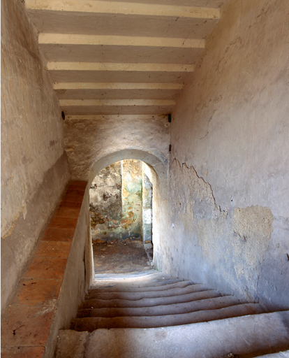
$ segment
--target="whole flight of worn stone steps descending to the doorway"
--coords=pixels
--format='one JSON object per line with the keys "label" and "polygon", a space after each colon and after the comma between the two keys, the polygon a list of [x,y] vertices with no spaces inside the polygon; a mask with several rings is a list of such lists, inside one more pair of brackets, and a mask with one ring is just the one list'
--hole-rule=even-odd
{"label": "whole flight of worn stone steps descending to the doorway", "polygon": [[71,330],[59,331],[56,357],[249,358],[288,349],[289,311],[269,313],[151,270],[97,275]]}

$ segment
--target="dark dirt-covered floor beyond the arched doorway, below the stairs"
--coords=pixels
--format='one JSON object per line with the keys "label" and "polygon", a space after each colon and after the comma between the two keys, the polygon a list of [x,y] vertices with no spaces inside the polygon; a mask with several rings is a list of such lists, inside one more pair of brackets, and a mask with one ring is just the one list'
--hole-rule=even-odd
{"label": "dark dirt-covered floor beyond the arched doorway, below the stairs", "polygon": [[142,241],[94,243],[94,273],[128,273],[151,269]]}

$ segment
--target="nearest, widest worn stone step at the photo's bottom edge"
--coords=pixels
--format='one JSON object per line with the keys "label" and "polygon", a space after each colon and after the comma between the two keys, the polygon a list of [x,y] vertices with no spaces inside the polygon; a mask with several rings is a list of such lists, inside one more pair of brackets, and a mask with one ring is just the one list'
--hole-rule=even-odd
{"label": "nearest, widest worn stone step at the photo's bottom edge", "polygon": [[[74,352],[79,348],[77,358],[259,357],[289,349],[288,322],[284,311],[175,327],[59,331],[56,358],[68,357],[68,343]],[[287,358],[288,352],[271,356]]]}

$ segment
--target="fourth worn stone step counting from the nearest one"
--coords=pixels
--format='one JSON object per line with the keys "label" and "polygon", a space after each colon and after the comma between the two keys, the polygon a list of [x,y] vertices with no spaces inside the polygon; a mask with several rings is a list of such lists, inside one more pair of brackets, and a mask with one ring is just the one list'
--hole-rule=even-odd
{"label": "fourth worn stone step counting from the nearest one", "polygon": [[163,306],[170,304],[177,304],[181,302],[190,302],[197,301],[200,299],[210,299],[213,297],[221,296],[220,292],[217,292],[214,289],[209,289],[201,292],[193,292],[191,294],[183,294],[179,296],[172,297],[160,297],[160,298],[149,298],[149,299],[139,299],[139,300],[125,300],[125,299],[111,299],[111,300],[101,300],[101,299],[89,299],[80,305],[80,309],[83,308],[111,308],[111,307],[152,307],[152,306]]}

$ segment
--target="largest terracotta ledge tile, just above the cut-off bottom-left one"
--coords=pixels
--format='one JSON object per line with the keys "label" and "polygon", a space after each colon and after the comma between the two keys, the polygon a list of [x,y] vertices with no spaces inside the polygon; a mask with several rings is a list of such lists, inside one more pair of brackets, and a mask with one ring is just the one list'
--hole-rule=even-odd
{"label": "largest terracotta ledge tile, just above the cut-off bottom-left one", "polygon": [[45,345],[54,309],[39,306],[10,306],[1,320],[1,345]]}

